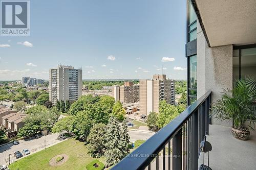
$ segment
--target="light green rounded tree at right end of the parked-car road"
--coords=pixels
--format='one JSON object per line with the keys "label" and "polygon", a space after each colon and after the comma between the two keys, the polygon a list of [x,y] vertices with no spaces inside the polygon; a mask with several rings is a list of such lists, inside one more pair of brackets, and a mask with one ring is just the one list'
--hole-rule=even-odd
{"label": "light green rounded tree at right end of the parked-car road", "polygon": [[52,132],[56,133],[56,132],[67,131],[69,134],[72,129],[72,122],[73,122],[73,116],[63,117],[52,128]]}

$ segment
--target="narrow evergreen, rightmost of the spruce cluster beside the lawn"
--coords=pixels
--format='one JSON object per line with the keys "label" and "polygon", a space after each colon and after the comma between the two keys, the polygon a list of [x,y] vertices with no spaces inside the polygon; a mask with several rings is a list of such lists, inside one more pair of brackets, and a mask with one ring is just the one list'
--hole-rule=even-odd
{"label": "narrow evergreen, rightmost of the spruce cluster beside the lawn", "polygon": [[121,125],[120,137],[121,137],[121,142],[123,144],[122,148],[124,151],[124,155],[127,155],[130,152],[130,150],[129,150],[130,136],[128,134],[127,125],[126,125],[125,120],[123,120],[122,125]]}

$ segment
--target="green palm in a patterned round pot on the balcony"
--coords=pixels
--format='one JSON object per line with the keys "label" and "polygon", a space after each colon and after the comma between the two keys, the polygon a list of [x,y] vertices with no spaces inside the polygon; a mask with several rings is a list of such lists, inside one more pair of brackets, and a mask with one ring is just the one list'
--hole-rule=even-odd
{"label": "green palm in a patterned round pot on the balcony", "polygon": [[[221,99],[214,103],[210,116],[224,120],[232,120],[231,132],[233,136],[240,140],[247,140],[250,130],[254,130],[256,116],[251,110],[251,105],[255,101],[256,83],[254,78],[247,77],[236,80],[236,86],[231,90],[227,89],[221,93]],[[248,128],[245,123],[248,122]]]}

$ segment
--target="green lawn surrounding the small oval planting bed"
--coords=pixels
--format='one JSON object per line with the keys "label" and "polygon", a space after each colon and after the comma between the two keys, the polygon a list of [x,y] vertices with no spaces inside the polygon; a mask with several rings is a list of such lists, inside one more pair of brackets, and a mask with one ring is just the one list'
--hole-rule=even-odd
{"label": "green lawn surrounding the small oval planting bed", "polygon": [[[77,142],[73,144],[74,142]],[[9,165],[10,170],[27,170],[27,169],[75,169],[85,170],[86,165],[96,158],[87,154],[88,150],[83,142],[75,139],[69,139],[53,145],[46,150],[39,151],[28,157],[22,158]],[[56,155],[67,154],[69,159],[62,165],[50,166],[49,161]],[[98,159],[98,158],[97,158]],[[99,161],[105,163],[105,158],[101,157]]]}

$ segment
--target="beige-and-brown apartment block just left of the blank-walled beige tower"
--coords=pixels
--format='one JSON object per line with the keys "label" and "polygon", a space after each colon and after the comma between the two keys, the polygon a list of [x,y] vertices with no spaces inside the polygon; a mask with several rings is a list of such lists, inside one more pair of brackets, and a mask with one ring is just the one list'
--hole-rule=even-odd
{"label": "beige-and-brown apartment block just left of the blank-walled beige tower", "polygon": [[112,96],[115,101],[121,103],[136,103],[139,102],[139,85],[134,85],[133,82],[124,82],[123,86],[112,86]]}

